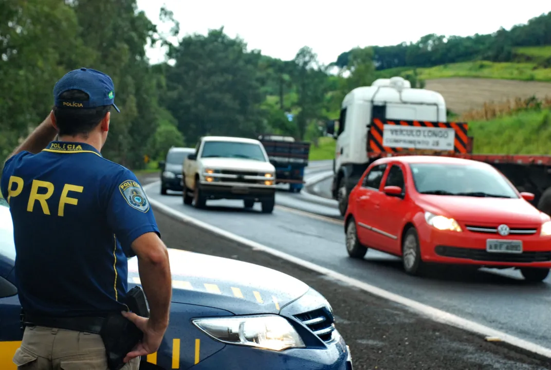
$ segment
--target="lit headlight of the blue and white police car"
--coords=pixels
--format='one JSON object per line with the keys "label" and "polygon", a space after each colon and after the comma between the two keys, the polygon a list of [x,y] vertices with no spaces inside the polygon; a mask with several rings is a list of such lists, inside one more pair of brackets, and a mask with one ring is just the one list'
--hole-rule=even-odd
{"label": "lit headlight of the blue and white police car", "polygon": [[197,328],[223,343],[272,351],[304,348],[304,342],[287,319],[278,315],[192,320]]}

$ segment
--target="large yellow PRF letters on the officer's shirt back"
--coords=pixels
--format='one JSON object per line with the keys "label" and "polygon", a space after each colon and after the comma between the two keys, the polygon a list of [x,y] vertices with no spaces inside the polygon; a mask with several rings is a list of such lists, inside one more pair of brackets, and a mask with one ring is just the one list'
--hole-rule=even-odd
{"label": "large yellow PRF letters on the officer's shirt back", "polygon": [[[80,146],[80,145],[77,145]],[[10,176],[8,182],[8,203],[12,198],[17,197],[23,191],[23,178],[18,176]],[[44,189],[46,192],[44,192]],[[27,203],[27,211],[34,212],[36,202],[39,203],[42,213],[50,215],[50,208],[46,200],[50,199],[53,194],[53,184],[48,181],[33,180],[31,185],[31,192],[29,194],[29,202]],[[65,205],[72,204],[77,205],[78,199],[69,197],[69,192],[82,193],[84,187],[72,184],[64,184],[63,191],[61,192],[60,202],[57,207],[57,215],[63,217]]]}

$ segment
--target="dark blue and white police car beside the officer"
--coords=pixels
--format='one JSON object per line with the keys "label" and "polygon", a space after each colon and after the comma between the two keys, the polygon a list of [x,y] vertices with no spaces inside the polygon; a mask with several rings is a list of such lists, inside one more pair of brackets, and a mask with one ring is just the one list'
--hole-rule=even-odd
{"label": "dark blue and white police car beside the officer", "polygon": [[[279,271],[169,248],[170,323],[140,370],[351,370],[329,302]],[[15,287],[13,224],[0,199],[0,369],[15,370],[23,339]],[[128,288],[141,285],[136,257]],[[63,366],[63,364],[62,364]]]}

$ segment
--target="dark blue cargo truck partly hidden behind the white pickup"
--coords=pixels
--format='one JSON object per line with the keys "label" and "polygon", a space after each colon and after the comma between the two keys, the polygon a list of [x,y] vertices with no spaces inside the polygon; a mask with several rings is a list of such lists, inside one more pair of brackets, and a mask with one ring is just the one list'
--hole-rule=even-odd
{"label": "dark blue cargo truck partly hidden behind the white pickup", "polygon": [[271,164],[276,167],[276,183],[289,184],[291,193],[300,193],[304,186],[304,168],[308,165],[310,143],[283,135],[260,135]]}

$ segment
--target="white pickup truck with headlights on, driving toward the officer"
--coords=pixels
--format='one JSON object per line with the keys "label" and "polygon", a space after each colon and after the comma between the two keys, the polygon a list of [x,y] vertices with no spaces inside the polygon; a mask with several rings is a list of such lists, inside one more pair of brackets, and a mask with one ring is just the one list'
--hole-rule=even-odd
{"label": "white pickup truck with headlights on, driving toward the officer", "polygon": [[242,199],[245,208],[262,203],[272,213],[276,200],[276,168],[264,146],[254,139],[208,136],[182,166],[183,203],[204,208],[207,199]]}

